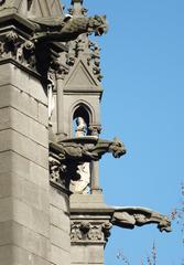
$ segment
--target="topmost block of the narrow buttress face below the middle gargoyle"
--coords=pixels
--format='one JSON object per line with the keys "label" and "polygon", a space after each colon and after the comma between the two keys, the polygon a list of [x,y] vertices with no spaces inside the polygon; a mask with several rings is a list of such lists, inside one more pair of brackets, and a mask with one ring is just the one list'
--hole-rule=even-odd
{"label": "topmost block of the narrow buttress face below the middle gargoyle", "polygon": [[61,209],[64,212],[69,212],[69,200],[67,195],[53,187],[50,188],[51,205]]}

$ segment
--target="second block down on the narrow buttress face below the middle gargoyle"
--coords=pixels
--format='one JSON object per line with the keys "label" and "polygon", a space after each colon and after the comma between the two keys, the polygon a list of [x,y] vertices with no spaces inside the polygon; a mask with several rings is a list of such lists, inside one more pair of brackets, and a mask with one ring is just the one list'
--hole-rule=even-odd
{"label": "second block down on the narrow buttress face below the middle gargoyle", "polygon": [[71,219],[69,219],[68,212],[64,212],[63,210],[51,205],[50,216],[51,216],[51,224],[65,231],[68,234],[71,233]]}

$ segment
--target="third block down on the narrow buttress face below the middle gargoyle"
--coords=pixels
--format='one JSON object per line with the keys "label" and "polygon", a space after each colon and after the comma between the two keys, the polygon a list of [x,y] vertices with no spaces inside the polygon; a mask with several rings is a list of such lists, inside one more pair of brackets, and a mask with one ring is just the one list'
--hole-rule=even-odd
{"label": "third block down on the narrow buttress face below the middle gargoyle", "polygon": [[66,233],[54,225],[51,225],[51,243],[66,252],[71,252],[69,233]]}

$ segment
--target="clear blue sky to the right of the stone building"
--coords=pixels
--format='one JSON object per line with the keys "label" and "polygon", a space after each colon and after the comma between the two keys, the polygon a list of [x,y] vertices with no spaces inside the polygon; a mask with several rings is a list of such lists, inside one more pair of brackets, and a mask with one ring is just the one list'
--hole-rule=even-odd
{"label": "clear blue sky to the right of the stone building", "polygon": [[[180,204],[184,181],[184,1],[86,0],[89,14],[107,14],[109,33],[101,46],[102,137],[119,136],[128,153],[106,156],[100,182],[110,205],[141,205],[169,214]],[[69,0],[63,1],[66,6]],[[181,264],[184,247],[173,225],[171,234],[155,226],[113,229],[106,265],[141,264],[153,241],[159,264]],[[183,255],[184,257],[184,255]]]}

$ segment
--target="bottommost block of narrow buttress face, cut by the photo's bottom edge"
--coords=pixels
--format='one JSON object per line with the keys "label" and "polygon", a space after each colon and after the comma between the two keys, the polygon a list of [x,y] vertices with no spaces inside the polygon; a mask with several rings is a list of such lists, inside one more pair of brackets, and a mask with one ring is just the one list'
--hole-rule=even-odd
{"label": "bottommost block of narrow buttress face, cut by the photo's bottom edge", "polygon": [[58,246],[51,246],[51,262],[55,265],[71,265],[71,254],[61,250]]}

